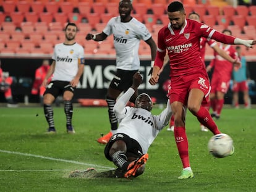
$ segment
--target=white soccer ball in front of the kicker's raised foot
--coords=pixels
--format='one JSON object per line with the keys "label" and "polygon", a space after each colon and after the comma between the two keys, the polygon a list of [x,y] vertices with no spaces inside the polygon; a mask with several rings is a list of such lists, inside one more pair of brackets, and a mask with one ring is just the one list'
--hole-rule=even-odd
{"label": "white soccer ball in front of the kicker's raised foot", "polygon": [[213,135],[208,142],[208,151],[214,157],[223,158],[234,153],[233,140],[229,135]]}

